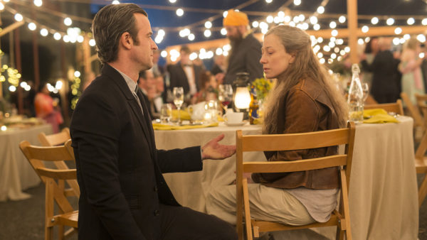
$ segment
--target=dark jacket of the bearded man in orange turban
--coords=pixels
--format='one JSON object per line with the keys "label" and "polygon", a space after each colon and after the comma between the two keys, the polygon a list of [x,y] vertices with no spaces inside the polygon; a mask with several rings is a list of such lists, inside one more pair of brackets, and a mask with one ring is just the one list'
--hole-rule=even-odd
{"label": "dark jacket of the bearded man in orange turban", "polygon": [[251,82],[256,78],[263,77],[263,65],[260,64],[261,47],[261,43],[252,33],[243,38],[240,44],[234,46],[231,49],[230,58],[228,58],[224,84],[233,84],[238,72],[248,72]]}

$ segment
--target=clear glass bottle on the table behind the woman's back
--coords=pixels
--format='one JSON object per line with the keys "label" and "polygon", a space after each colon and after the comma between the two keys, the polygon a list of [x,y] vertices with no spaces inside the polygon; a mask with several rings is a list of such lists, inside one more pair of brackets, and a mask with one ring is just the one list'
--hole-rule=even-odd
{"label": "clear glass bottle on the table behind the woman's back", "polygon": [[349,104],[349,120],[355,122],[363,121],[363,89],[359,72],[359,65],[354,63],[352,65],[352,82],[350,83],[347,103]]}

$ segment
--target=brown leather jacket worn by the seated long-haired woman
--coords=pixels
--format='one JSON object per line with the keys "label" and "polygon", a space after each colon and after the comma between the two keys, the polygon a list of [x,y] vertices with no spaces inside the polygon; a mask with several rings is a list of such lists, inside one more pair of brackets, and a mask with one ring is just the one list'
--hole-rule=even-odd
{"label": "brown leather jacket worn by the seated long-haired woman", "polygon": [[[301,80],[290,89],[278,107],[283,109],[278,116],[280,133],[304,133],[338,128],[337,114],[327,94],[314,80]],[[301,151],[265,152],[269,161],[319,158],[337,153],[337,147],[315,148]],[[254,182],[269,187],[332,189],[339,186],[338,168],[324,168],[293,173],[254,173]]]}

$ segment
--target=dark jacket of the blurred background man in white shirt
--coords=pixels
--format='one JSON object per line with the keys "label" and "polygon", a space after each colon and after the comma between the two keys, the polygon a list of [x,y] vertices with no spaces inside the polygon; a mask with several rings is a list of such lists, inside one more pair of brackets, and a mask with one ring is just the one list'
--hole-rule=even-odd
{"label": "dark jacket of the blurred background man in white shirt", "polygon": [[[200,90],[199,79],[200,79],[202,68],[197,65],[193,65],[193,69],[194,69],[194,81],[196,82],[197,92],[199,92]],[[183,87],[184,94],[187,94],[190,91],[189,80],[187,79],[184,69],[181,66],[181,62],[178,62],[175,65],[171,65],[169,67],[169,75],[170,75],[170,81],[171,81],[169,87],[171,90],[173,90],[174,87]]]}

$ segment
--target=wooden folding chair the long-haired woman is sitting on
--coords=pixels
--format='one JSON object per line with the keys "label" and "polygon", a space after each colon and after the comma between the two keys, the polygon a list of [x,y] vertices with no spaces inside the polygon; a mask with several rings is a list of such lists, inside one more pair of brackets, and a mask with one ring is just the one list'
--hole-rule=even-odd
{"label": "wooden folding chair the long-haired woman is sitting on", "polygon": [[[334,129],[310,133],[248,135],[236,132],[236,197],[237,197],[237,231],[243,239],[243,207],[245,212],[246,237],[252,240],[259,232],[307,229],[312,227],[337,226],[337,238],[352,239],[349,216],[348,188],[352,169],[354,146],[354,123],[349,122],[346,129]],[[341,155],[326,156],[295,161],[243,162],[243,152],[248,151],[290,151],[310,148],[324,148],[345,144]],[[290,226],[278,222],[265,222],[251,219],[249,207],[248,182],[243,173],[288,173],[304,170],[315,170],[339,166],[341,190],[339,210],[334,210],[329,221],[325,223]]]}

